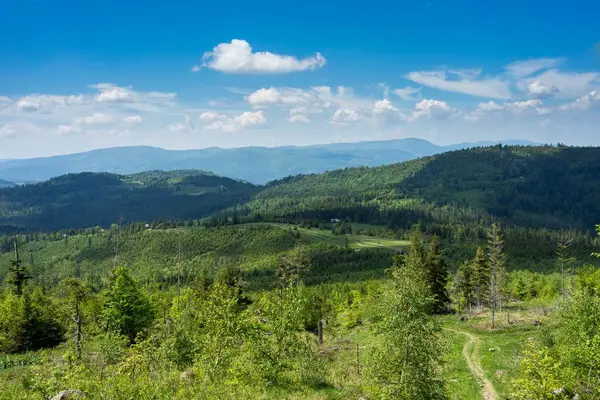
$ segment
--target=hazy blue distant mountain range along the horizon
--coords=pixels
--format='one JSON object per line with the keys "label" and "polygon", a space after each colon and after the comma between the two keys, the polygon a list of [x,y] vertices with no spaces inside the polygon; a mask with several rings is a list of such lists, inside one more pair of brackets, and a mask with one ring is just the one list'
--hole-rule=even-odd
{"label": "hazy blue distant mountain range along the horizon", "polygon": [[[422,139],[397,139],[275,148],[212,147],[198,150],[165,150],[148,146],[115,147],[54,157],[3,160],[0,162],[0,187],[3,183],[4,186],[10,186],[12,182],[43,181],[79,172],[134,174],[151,170],[180,169],[212,171],[221,176],[264,184],[290,175],[321,173],[347,167],[379,166],[497,143],[475,142],[438,146]],[[520,140],[501,143],[536,144]]]}

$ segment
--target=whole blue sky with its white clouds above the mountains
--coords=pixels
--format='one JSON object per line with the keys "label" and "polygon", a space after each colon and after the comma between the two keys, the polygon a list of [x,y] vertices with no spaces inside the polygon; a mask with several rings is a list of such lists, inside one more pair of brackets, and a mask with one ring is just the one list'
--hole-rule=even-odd
{"label": "whole blue sky with its white clouds above the mountains", "polygon": [[0,158],[402,137],[600,145],[598,2],[0,8]]}

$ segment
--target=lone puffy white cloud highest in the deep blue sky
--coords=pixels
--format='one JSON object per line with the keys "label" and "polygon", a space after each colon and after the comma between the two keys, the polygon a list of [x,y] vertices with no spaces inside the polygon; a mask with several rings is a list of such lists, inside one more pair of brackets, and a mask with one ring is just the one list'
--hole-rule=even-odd
{"label": "lone puffy white cloud highest in the deep blue sky", "polygon": [[[252,52],[245,40],[233,39],[231,43],[221,43],[211,52],[202,56],[202,67],[226,73],[290,73],[314,70],[325,65],[321,53],[298,59],[293,56],[279,55],[268,51]],[[192,70],[199,70],[193,67]]]}

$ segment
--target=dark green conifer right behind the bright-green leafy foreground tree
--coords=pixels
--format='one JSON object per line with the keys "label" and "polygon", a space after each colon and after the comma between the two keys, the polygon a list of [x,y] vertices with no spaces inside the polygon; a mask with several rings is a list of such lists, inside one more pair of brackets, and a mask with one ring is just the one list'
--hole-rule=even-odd
{"label": "dark green conifer right behind the bright-green leafy foreground tree", "polygon": [[429,244],[429,252],[425,258],[427,281],[434,296],[433,312],[436,314],[447,311],[450,302],[448,296],[448,265],[442,257],[437,235],[433,235]]}

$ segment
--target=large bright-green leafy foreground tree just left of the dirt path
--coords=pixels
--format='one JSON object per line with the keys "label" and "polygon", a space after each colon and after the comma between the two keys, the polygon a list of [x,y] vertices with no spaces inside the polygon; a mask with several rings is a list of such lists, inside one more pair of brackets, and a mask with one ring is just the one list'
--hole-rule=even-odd
{"label": "large bright-green leafy foreground tree just left of the dirt path", "polygon": [[444,354],[419,232],[408,255],[396,256],[390,280],[376,306],[377,341],[367,376],[373,398],[444,399],[439,364]]}

